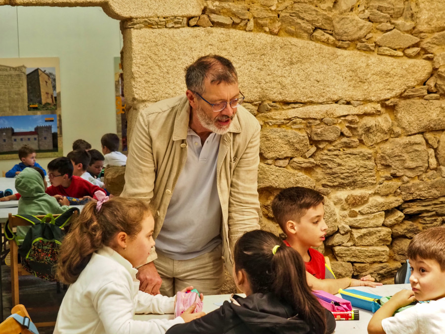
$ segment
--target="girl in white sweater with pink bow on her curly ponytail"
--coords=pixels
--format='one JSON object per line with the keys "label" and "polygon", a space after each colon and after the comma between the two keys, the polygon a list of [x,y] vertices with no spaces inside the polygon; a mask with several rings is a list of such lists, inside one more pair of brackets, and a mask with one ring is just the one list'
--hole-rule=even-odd
{"label": "girl in white sweater with pink bow on her curly ponytail", "polygon": [[99,200],[85,205],[60,247],[57,277],[71,286],[54,333],[163,334],[202,316],[192,314],[192,306],[174,320],[133,320],[134,313],[174,313],[175,298],[139,290],[135,268],[145,264],[155,244],[148,205],[131,198],[108,200],[102,194],[97,191]]}

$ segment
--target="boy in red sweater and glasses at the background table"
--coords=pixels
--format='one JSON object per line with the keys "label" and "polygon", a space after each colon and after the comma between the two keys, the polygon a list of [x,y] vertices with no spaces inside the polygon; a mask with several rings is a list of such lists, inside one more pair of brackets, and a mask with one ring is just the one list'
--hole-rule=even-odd
{"label": "boy in red sweater and glasses at the background table", "polygon": [[54,196],[69,196],[75,198],[84,198],[86,196],[97,199],[94,195],[95,191],[105,191],[89,183],[87,180],[79,176],[73,175],[73,164],[67,157],[60,157],[51,160],[48,163],[48,178],[50,187],[46,193]]}

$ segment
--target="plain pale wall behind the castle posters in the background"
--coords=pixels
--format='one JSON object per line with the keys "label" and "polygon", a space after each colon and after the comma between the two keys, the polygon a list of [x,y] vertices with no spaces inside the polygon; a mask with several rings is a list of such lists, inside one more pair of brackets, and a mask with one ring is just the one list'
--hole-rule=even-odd
{"label": "plain pale wall behind the castle posters in the background", "polygon": [[[76,139],[100,151],[100,138],[116,133],[114,57],[120,56],[119,21],[100,7],[0,6],[0,58],[58,57],[63,154]],[[45,169],[52,158],[37,161]],[[0,171],[18,163],[0,160]]]}

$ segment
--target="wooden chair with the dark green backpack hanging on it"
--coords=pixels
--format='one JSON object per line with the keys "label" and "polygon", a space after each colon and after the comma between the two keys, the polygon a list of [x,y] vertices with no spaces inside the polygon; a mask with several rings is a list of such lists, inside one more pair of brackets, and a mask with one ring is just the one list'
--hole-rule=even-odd
{"label": "wooden chair with the dark green backpack hanging on it", "polygon": [[[54,215],[54,217],[57,217],[60,215]],[[36,216],[37,218],[44,218],[45,216]],[[13,216],[11,213],[9,213],[9,226],[11,229],[17,226],[32,226],[30,222],[27,220]],[[11,254],[11,299],[12,299],[12,306],[19,304],[19,276],[24,275],[32,275],[29,272],[23,268],[21,263],[18,263],[18,246],[14,239],[9,240],[9,249]],[[60,283],[57,282],[57,292],[60,292]],[[42,322],[42,323],[35,323],[37,327],[46,327],[46,326],[54,326],[55,322]],[[2,333],[2,332],[0,332]]]}

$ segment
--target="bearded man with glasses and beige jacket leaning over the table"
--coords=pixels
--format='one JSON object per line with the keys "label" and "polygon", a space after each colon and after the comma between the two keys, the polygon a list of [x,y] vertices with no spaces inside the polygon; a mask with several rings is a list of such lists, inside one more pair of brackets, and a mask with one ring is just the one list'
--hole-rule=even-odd
{"label": "bearded man with glasses and beige jacket leaning over the table", "polygon": [[223,259],[231,273],[235,241],[259,228],[260,125],[241,106],[235,68],[203,56],[186,68],[185,83],[185,95],[139,113],[121,194],[152,205],[156,252],[137,275],[151,294],[161,282],[169,296],[188,286],[219,293]]}

